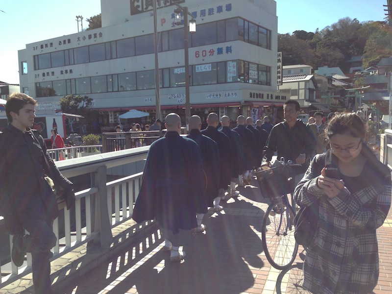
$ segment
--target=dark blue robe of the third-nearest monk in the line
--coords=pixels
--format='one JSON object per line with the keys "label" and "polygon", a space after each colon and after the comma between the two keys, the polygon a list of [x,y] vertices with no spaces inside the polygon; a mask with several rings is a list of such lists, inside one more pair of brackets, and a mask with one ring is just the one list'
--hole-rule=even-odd
{"label": "dark blue robe of the third-nearest monk in the line", "polygon": [[219,188],[226,189],[227,185],[230,184],[232,161],[231,161],[231,146],[230,139],[218,131],[216,127],[207,126],[206,129],[202,130],[201,133],[207,137],[210,137],[218,144],[219,159],[220,159],[220,176],[219,176]]}

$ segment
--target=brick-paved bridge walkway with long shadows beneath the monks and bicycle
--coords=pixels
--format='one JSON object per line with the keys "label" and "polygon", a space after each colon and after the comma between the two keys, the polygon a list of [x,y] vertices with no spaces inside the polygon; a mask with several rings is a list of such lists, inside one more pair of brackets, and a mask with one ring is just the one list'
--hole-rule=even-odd
{"label": "brick-paved bridge walkway with long shadows beneath the monks and bicycle", "polygon": [[[256,183],[223,203],[222,213],[204,217],[205,234],[192,237],[181,263],[171,263],[159,230],[134,241],[114,258],[74,280],[58,294],[285,294],[307,293],[301,254],[291,269],[271,268],[263,252],[261,224],[267,203]],[[141,234],[142,235],[142,234]],[[140,239],[142,238],[142,239]],[[392,293],[392,213],[378,230],[380,279],[375,294]],[[298,251],[301,253],[301,250]],[[302,256],[303,257],[303,256]]]}

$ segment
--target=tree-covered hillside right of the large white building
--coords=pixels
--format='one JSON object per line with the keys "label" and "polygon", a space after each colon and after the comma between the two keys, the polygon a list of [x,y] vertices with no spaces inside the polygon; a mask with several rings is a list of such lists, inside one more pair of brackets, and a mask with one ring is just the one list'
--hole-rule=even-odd
{"label": "tree-covered hillside right of the large white building", "polygon": [[346,17],[316,32],[278,34],[278,51],[282,51],[283,65],[340,67],[348,73],[346,61],[352,56],[363,55],[364,68],[390,57],[391,38],[392,28],[386,21],[360,23]]}

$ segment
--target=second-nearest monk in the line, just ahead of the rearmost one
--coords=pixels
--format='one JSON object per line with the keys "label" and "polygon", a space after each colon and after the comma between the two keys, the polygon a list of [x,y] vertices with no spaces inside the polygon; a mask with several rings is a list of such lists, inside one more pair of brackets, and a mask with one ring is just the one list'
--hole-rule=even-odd
{"label": "second-nearest monk in the line, just ahead of the rearmost one", "polygon": [[[198,115],[192,116],[189,119],[189,135],[187,138],[194,140],[198,147],[200,147],[201,154],[203,155],[203,171],[206,178],[205,192],[207,194],[208,206],[213,206],[214,199],[219,194],[219,149],[214,140],[201,134],[200,129],[200,117]],[[197,228],[194,229],[195,232],[205,230],[205,225],[201,223],[203,217],[203,213],[196,214]]]}

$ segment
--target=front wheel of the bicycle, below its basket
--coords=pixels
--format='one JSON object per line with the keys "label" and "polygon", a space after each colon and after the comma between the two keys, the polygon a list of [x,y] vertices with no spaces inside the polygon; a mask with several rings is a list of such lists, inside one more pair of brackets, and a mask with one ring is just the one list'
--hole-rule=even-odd
{"label": "front wheel of the bicycle, below its basket", "polygon": [[294,210],[291,206],[272,201],[264,215],[261,230],[266,257],[271,266],[278,270],[291,266],[298,251],[298,244],[294,239],[294,225],[288,226],[287,223],[288,209],[291,210],[292,218],[294,218]]}

